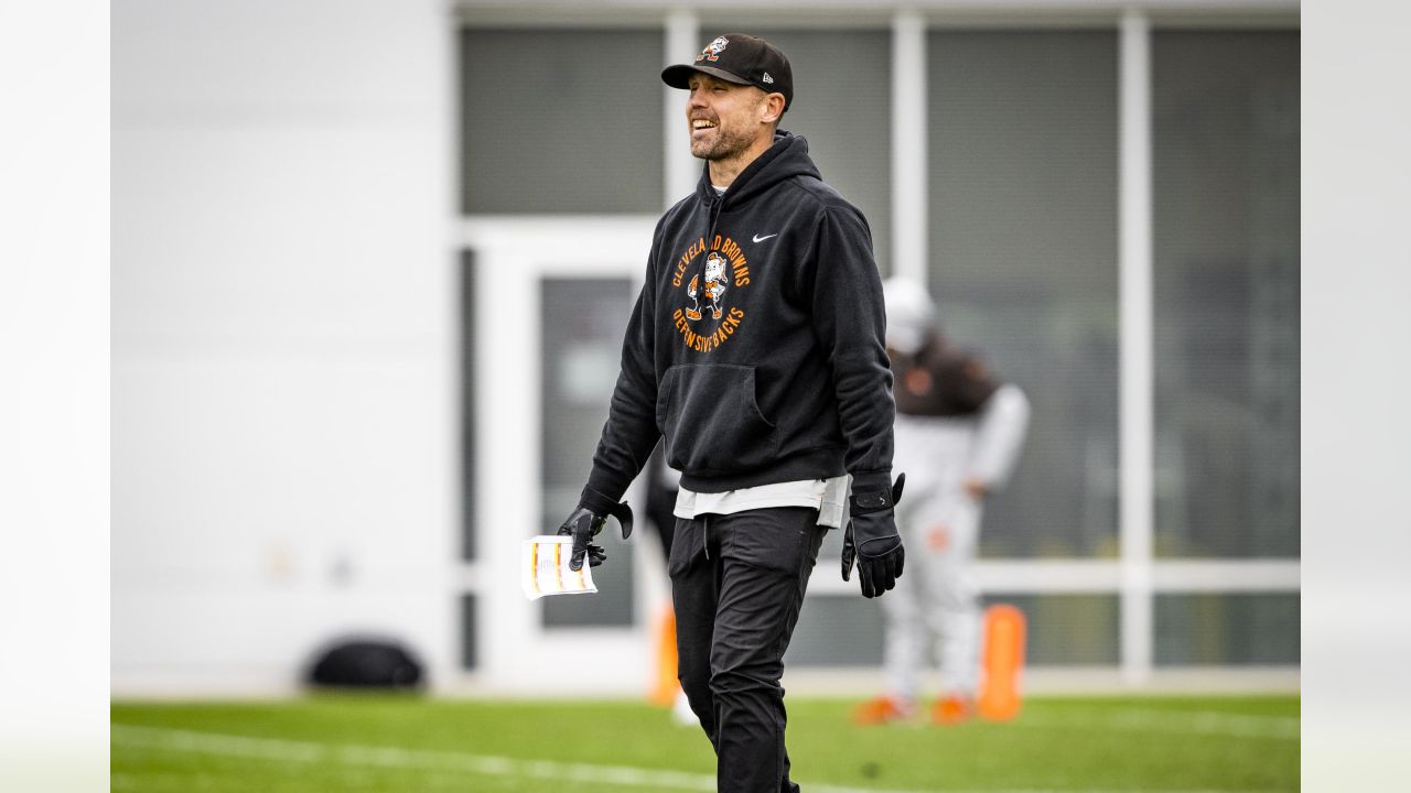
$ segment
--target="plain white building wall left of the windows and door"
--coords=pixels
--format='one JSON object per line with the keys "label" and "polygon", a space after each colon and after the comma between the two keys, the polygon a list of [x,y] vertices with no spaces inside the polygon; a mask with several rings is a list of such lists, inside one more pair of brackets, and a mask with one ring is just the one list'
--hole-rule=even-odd
{"label": "plain white building wall left of the windows and door", "polygon": [[114,693],[452,663],[449,11],[113,14]]}

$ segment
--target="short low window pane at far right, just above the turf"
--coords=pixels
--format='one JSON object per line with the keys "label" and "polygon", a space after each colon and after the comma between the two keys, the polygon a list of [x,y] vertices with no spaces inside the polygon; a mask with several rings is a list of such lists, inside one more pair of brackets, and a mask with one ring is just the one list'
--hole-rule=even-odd
{"label": "short low window pane at far right, just above the turf", "polygon": [[1298,595],[1156,597],[1157,666],[1298,663]]}

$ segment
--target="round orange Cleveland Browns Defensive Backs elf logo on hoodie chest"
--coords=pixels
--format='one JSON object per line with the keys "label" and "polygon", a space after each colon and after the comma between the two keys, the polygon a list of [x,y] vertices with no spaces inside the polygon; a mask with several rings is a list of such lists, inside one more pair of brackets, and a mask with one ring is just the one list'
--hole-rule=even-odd
{"label": "round orange Cleveland Browns Defensive Backs elf logo on hoodie chest", "polygon": [[[706,255],[706,267],[686,279],[691,265]],[[745,251],[729,237],[715,234],[707,248],[706,238],[691,243],[672,272],[672,288],[682,289],[682,301],[672,313],[682,341],[697,353],[718,349],[739,330],[745,309],[731,306],[749,286],[749,262]]]}

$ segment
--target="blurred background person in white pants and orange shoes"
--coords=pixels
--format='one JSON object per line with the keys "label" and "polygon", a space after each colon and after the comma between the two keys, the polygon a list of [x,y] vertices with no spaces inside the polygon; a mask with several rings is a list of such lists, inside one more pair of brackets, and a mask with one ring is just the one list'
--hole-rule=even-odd
{"label": "blurred background person in white pants and orange shoes", "polygon": [[1029,399],[991,374],[981,358],[941,333],[935,305],[916,281],[883,284],[886,344],[896,377],[896,470],[909,498],[897,522],[912,549],[909,576],[886,612],[886,691],[854,713],[858,724],[917,713],[930,639],[943,691],[931,721],[955,724],[975,710],[981,604],[972,580],[985,497],[1003,487],[1029,428]]}

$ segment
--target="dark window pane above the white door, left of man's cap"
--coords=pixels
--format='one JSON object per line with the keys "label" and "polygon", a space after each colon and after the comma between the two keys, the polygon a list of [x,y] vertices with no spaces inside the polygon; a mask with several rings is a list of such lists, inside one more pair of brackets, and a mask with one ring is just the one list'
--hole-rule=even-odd
{"label": "dark window pane above the white door, left of man's cap", "polygon": [[662,210],[660,31],[460,34],[461,210]]}

